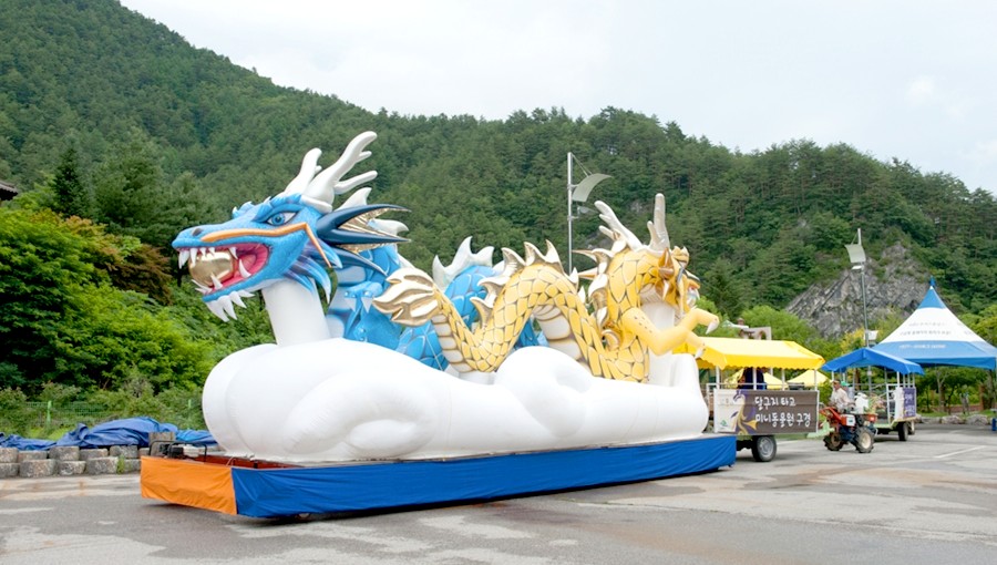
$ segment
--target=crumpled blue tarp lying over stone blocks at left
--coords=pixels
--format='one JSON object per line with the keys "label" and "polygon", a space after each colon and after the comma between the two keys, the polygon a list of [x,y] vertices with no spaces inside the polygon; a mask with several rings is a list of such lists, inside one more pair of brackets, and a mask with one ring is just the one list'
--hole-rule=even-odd
{"label": "crumpled blue tarp lying over stone blocks at left", "polygon": [[173,432],[176,440],[193,445],[213,445],[215,439],[205,430],[178,430],[171,423],[160,423],[152,418],[136,417],[112,420],[89,428],[76,424],[76,429],[66,432],[58,441],[30,440],[20,435],[0,433],[0,448],[17,448],[23,451],[47,450],[53,445],[78,445],[83,449],[110,448],[111,445],[148,446],[148,434],[152,432]]}

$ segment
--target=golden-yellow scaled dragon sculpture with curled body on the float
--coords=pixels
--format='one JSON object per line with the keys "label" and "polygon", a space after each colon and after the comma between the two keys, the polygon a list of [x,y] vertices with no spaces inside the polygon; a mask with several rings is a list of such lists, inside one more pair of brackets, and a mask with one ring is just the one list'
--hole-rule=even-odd
{"label": "golden-yellow scaled dragon sculpture with curled body on the float", "polygon": [[[702,341],[693,329],[709,326],[707,331],[712,331],[719,319],[695,307],[699,280],[686,270],[689,253],[669,249],[662,195],[655,198],[647,245],[605,203],[597,202],[596,207],[606,224],[599,229],[613,245],[576,251],[590,257],[596,267],[566,275],[549,242],[545,254],[525,244],[525,258],[502,249],[505,267],[501,275],[483,281],[487,296],[475,301],[480,322],[474,329],[464,323],[432,278],[415,268],[397,270],[388,279],[391,286],[373,304],[402,325],[432,320],[446,360],[460,372],[496,370],[533,317],[551,347],[594,376],[644,382],[649,352],[664,355],[682,343],[699,349]],[[588,301],[594,315],[578,290],[579,276],[592,280]],[[668,304],[680,320],[670,328],[656,327],[641,309],[651,302]]]}

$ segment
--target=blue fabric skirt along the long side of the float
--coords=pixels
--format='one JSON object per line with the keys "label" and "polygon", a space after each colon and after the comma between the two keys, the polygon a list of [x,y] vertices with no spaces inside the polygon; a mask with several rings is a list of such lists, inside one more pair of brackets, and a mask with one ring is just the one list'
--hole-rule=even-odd
{"label": "blue fabric skirt along the long side of the float", "polygon": [[[232,468],[238,514],[254,517],[491,500],[648,481],[734,464],[736,435],[665,443],[291,469]],[[183,502],[182,502],[183,503]]]}

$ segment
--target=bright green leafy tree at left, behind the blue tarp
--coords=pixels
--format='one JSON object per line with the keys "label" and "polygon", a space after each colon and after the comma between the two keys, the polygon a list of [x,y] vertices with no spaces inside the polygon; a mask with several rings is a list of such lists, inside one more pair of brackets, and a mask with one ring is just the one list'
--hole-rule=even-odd
{"label": "bright green leafy tree at left, behind the blue tarp", "polygon": [[113,388],[136,371],[157,389],[203,380],[210,346],[111,285],[120,242],[86,220],[0,207],[0,388]]}

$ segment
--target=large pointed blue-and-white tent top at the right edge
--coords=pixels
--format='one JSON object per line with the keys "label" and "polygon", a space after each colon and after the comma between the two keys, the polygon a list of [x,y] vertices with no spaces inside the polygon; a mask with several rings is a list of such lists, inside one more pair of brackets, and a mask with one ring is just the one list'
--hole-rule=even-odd
{"label": "large pointed blue-and-white tent top at the right edge", "polygon": [[997,371],[997,348],[952,314],[935,291],[935,279],[914,314],[873,349],[922,367],[952,364]]}

